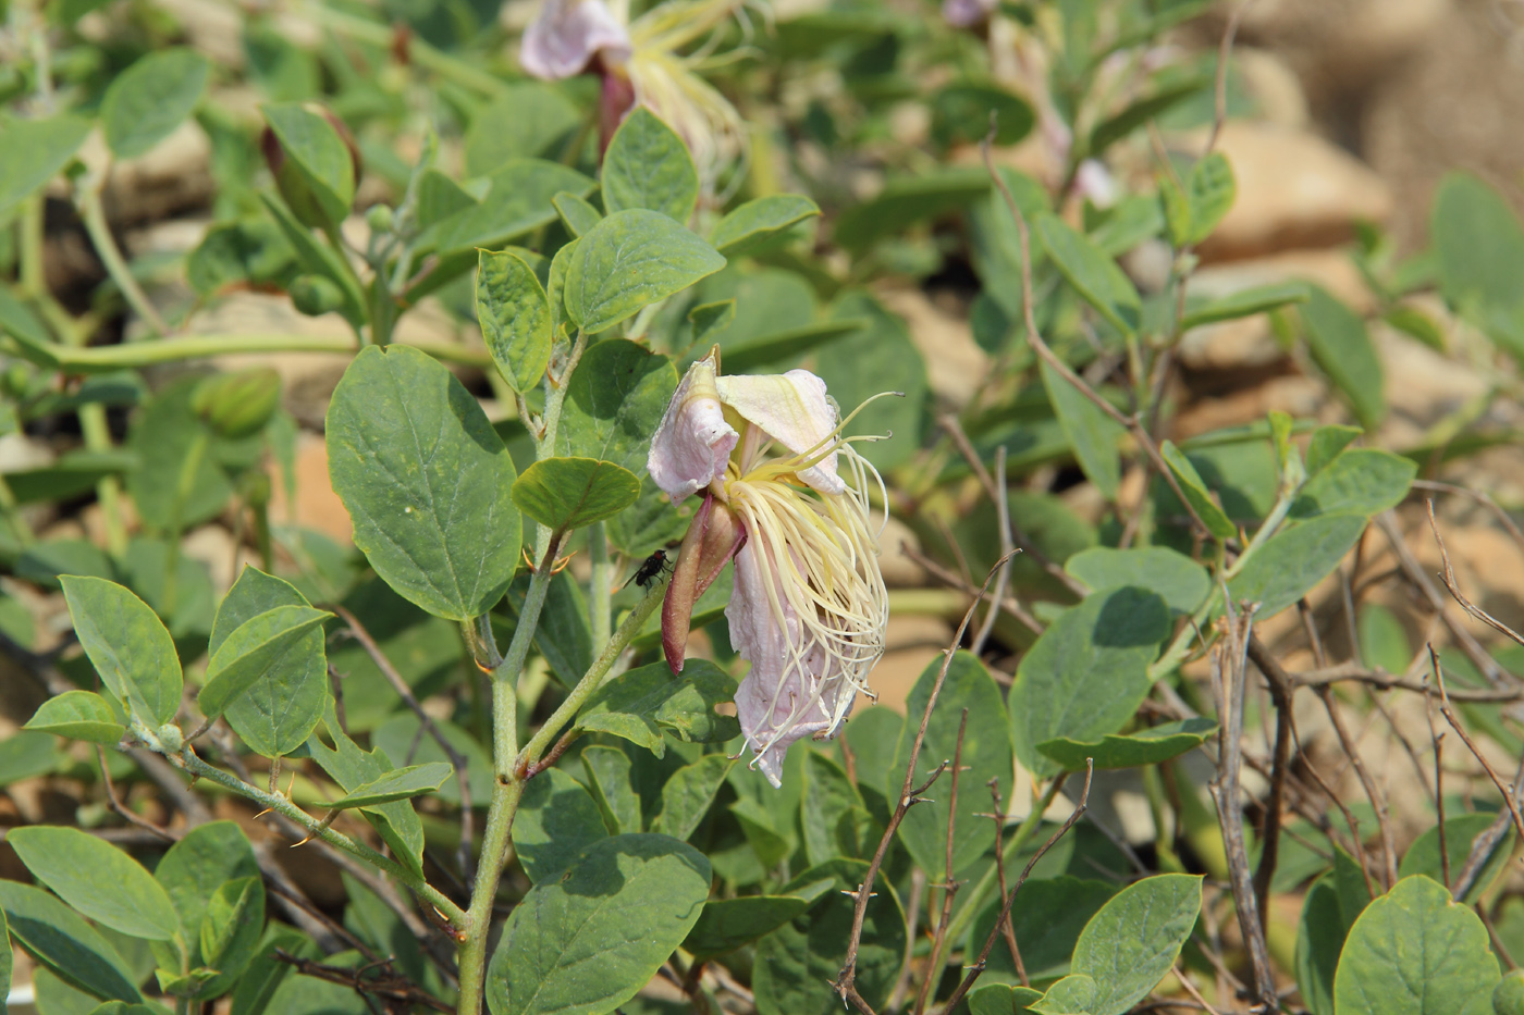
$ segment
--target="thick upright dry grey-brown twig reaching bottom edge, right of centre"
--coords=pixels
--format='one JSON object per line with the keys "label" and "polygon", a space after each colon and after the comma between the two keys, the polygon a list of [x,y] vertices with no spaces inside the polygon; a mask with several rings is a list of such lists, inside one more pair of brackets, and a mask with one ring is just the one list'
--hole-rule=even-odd
{"label": "thick upright dry grey-brown twig reaching bottom edge, right of centre", "polygon": [[[1228,875],[1233,884],[1233,905],[1237,910],[1239,931],[1248,946],[1250,966],[1254,975],[1251,997],[1265,1012],[1279,1012],[1276,977],[1269,968],[1269,945],[1265,942],[1265,921],[1259,911],[1254,892],[1254,876],[1248,866],[1248,847],[1244,843],[1244,802],[1239,777],[1244,747],[1244,689],[1248,684],[1248,645],[1254,625],[1256,604],[1245,604],[1239,613],[1228,604],[1227,642],[1219,642],[1212,651],[1212,686],[1218,698],[1218,776],[1207,789],[1218,806],[1222,824],[1222,847],[1227,853]],[[1225,664],[1224,664],[1225,663]]]}

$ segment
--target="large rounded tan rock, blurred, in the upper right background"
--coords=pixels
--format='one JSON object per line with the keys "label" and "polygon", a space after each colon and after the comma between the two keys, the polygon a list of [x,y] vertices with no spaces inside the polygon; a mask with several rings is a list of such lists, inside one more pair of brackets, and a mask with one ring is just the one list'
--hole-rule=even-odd
{"label": "large rounded tan rock, blurred, in the upper right background", "polygon": [[1353,238],[1355,223],[1382,223],[1391,213],[1381,177],[1312,134],[1230,120],[1218,151],[1233,165],[1237,200],[1201,244],[1205,261],[1330,247]]}

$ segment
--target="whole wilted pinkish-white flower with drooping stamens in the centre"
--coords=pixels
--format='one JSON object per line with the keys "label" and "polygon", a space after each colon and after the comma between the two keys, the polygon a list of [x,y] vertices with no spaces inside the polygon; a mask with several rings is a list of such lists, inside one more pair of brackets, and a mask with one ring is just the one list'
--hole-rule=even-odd
{"label": "whole wilted pinkish-white flower with drooping stamens in the centre", "polygon": [[[735,556],[730,642],[751,672],[736,690],[753,765],[779,785],[783,753],[835,736],[884,654],[888,593],[869,524],[878,471],[841,436],[808,370],[719,376],[718,349],[689,367],[651,442],[648,468],[677,503],[703,492],[661,611],[681,672],[693,602]],[[861,439],[861,437],[858,437]]]}

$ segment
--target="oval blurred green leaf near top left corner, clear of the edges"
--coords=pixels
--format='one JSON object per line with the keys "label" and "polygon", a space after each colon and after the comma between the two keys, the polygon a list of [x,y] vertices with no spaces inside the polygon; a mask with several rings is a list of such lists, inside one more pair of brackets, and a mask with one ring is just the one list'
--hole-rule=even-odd
{"label": "oval blurred green leaf near top left corner, clear of the edges", "polygon": [[117,75],[101,101],[105,143],[117,158],[136,158],[169,137],[201,101],[207,62],[192,49],[148,53]]}

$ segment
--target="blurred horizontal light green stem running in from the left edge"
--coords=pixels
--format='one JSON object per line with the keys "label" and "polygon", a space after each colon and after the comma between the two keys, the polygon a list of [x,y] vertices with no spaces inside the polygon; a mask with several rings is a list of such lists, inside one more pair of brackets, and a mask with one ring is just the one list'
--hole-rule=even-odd
{"label": "blurred horizontal light green stem running in from the left edge", "polygon": [[[453,341],[410,341],[419,352],[443,363],[491,366],[492,358],[482,351]],[[344,335],[184,335],[158,341],[131,341],[116,346],[75,349],[62,344],[15,344],[8,352],[29,358],[66,373],[111,373],[155,363],[201,360],[227,352],[354,352],[354,338]]]}

